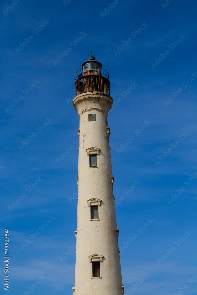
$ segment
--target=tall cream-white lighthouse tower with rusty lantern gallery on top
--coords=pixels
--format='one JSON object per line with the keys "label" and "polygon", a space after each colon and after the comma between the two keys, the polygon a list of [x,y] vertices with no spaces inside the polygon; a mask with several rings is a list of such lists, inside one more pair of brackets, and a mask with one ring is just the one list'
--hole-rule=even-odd
{"label": "tall cream-white lighthouse tower with rusty lantern gallery on top", "polygon": [[73,105],[80,121],[73,295],[122,295],[107,119],[113,105],[109,74],[89,56],[75,78]]}

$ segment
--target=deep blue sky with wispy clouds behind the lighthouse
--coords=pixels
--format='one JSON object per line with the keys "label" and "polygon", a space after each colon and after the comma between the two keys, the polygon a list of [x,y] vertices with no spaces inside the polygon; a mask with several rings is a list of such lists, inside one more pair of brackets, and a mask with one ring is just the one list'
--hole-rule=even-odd
{"label": "deep blue sky with wispy clouds behind the lighthouse", "polygon": [[125,294],[180,295],[185,284],[185,295],[196,294],[196,1],[111,1],[110,11],[108,1],[64,2],[1,1],[0,238],[9,228],[9,294],[72,294],[79,117],[70,96],[91,50],[109,69],[115,102],[108,125]]}

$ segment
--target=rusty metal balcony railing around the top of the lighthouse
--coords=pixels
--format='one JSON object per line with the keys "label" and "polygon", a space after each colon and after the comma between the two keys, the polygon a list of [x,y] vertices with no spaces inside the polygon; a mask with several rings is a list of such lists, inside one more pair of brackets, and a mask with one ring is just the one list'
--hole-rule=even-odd
{"label": "rusty metal balcony railing around the top of the lighthouse", "polygon": [[[82,73],[80,73],[82,71]],[[110,95],[109,73],[98,67],[87,67],[76,72],[75,93],[99,91]]]}

